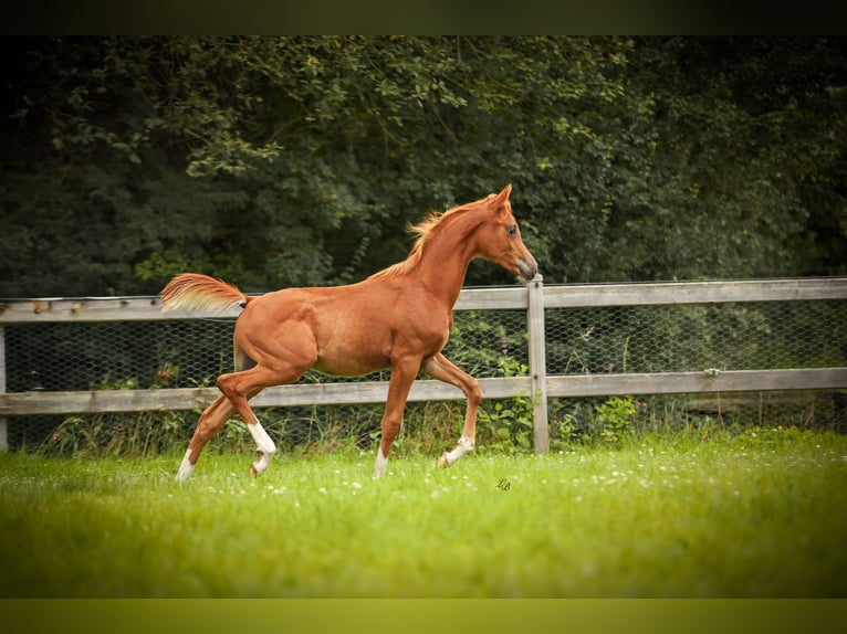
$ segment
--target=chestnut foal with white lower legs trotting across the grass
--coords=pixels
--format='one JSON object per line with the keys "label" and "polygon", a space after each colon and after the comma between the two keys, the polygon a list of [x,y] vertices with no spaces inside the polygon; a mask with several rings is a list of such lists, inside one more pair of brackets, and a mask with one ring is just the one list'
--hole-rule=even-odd
{"label": "chestnut foal with white lower legs trotting across the grass", "polygon": [[250,475],[268,468],[276,447],[248,401],[264,388],[296,381],[310,368],[343,377],[391,369],[374,477],[386,473],[419,371],[457,385],[468,399],[461,437],[456,448],[441,455],[439,466],[450,466],[473,450],[482,394],[477,380],[441,349],[471,260],[495,262],[522,282],[537,273],[512,215],[511,190],[506,186],[498,194],[430,214],[410,228],[418,240],[405,261],[357,284],[247,296],[206,275],[174,277],[161,292],[165,309],[243,307],[236,321],[236,371],[218,378],[221,395],[200,415],[177,478],[190,477],[206,443],[236,413],[247,423],[259,453]]}

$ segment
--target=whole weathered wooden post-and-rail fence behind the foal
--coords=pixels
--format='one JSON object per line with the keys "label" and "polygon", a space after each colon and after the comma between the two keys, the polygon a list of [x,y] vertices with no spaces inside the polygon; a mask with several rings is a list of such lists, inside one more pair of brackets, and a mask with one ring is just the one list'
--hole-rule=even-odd
{"label": "whole weathered wooden post-and-rail fence behind the foal", "polygon": [[[537,452],[546,452],[550,444],[548,398],[847,389],[847,368],[844,367],[733,371],[703,368],[701,371],[689,372],[547,374],[546,308],[822,299],[847,299],[847,277],[547,286],[538,277],[526,286],[466,288],[459,296],[456,310],[526,310],[529,374],[484,378],[480,379],[480,387],[487,399],[531,395],[534,447]],[[234,317],[238,313],[238,309],[233,309],[222,316]],[[4,325],[196,318],[197,313],[163,313],[158,297],[40,298],[0,303],[0,451],[8,448],[3,416],[190,410],[198,403],[210,402],[218,394],[216,388],[7,393]],[[264,390],[252,403],[259,408],[378,403],[385,401],[387,391],[386,381],[293,384]],[[416,381],[409,395],[410,401],[458,399],[463,399],[458,388],[433,380]]]}

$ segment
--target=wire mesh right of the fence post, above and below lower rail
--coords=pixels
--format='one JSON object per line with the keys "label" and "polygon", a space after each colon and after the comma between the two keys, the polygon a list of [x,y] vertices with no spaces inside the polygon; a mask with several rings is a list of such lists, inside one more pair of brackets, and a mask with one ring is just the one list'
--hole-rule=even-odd
{"label": "wire mesh right of the fence post, above and below lower rail", "polygon": [[[847,366],[847,302],[762,302],[548,309],[548,374],[699,372]],[[609,403],[613,406],[609,406]],[[605,409],[605,411],[604,411]],[[617,409],[617,412],[615,411]],[[553,399],[552,445],[642,429],[745,426],[847,431],[844,391]]]}

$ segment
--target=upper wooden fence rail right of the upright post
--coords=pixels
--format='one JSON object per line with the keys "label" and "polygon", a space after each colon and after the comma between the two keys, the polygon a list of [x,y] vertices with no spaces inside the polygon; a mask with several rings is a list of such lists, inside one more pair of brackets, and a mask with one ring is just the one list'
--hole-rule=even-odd
{"label": "upper wooden fence rail right of the upright post", "polygon": [[847,277],[545,286],[547,308],[847,299]]}

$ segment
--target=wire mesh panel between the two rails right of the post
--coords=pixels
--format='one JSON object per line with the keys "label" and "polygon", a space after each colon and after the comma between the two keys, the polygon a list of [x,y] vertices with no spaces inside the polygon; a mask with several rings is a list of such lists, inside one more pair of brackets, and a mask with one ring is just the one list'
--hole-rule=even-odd
{"label": "wire mesh panel between the two rails right of the post", "polygon": [[548,309],[547,372],[844,366],[844,300]]}

